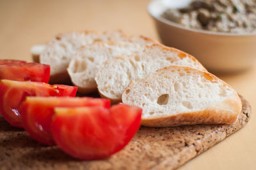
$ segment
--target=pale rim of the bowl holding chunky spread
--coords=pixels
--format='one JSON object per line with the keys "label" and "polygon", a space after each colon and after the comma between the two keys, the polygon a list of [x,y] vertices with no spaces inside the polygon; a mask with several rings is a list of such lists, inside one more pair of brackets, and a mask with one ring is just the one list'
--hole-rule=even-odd
{"label": "pale rim of the bowl holding chunky spread", "polygon": [[147,12],[153,19],[156,19],[159,22],[163,22],[164,24],[167,24],[168,26],[177,27],[179,29],[184,29],[186,31],[191,31],[191,32],[195,32],[195,33],[203,33],[206,35],[218,35],[218,36],[255,36],[256,35],[256,32],[255,33],[238,33],[237,34],[237,33],[216,32],[216,31],[208,31],[208,30],[204,30],[204,29],[184,27],[181,24],[177,24],[176,22],[172,22],[171,20],[164,19],[164,17],[161,17],[161,16],[156,17],[155,15],[153,15],[150,12],[150,5],[152,5],[152,3],[154,3],[154,1],[162,1],[162,0],[150,0],[150,2],[147,4]]}

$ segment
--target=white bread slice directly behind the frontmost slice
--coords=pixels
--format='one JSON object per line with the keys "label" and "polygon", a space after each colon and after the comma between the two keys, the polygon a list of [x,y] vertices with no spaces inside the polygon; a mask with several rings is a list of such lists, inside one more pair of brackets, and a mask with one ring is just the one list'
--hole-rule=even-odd
{"label": "white bread slice directly behind the frontmost slice", "polygon": [[159,68],[170,65],[184,65],[204,70],[193,56],[180,50],[154,44],[140,54],[121,56],[106,61],[97,72],[95,81],[102,97],[120,102],[125,87],[132,80],[138,80]]}

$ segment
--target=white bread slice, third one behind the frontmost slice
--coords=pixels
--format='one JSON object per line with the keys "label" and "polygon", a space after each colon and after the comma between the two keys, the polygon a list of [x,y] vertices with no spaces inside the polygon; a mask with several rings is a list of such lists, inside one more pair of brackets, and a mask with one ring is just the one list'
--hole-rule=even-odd
{"label": "white bread slice, third one behind the frontmost slice", "polygon": [[47,43],[45,49],[40,54],[40,63],[51,66],[50,82],[66,82],[69,81],[67,73],[68,63],[81,46],[97,41],[119,41],[127,40],[128,38],[129,36],[125,35],[122,31],[65,33],[56,36],[51,42]]}

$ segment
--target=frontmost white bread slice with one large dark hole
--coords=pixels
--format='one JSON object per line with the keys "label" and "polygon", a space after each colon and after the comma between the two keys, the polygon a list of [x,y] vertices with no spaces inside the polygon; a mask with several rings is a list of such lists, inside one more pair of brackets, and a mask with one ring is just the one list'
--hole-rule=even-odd
{"label": "frontmost white bread slice with one large dark hole", "polygon": [[148,127],[231,125],[242,109],[239,96],[227,83],[187,66],[161,68],[132,81],[122,101],[141,107],[141,125]]}

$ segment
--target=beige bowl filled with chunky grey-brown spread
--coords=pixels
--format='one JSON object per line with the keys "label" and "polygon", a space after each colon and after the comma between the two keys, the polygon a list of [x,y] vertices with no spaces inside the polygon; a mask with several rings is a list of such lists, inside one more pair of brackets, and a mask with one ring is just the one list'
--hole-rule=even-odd
{"label": "beige bowl filled with chunky grey-brown spread", "polygon": [[256,61],[256,12],[250,6],[225,0],[155,0],[148,13],[165,45],[192,54],[211,72],[232,73]]}

